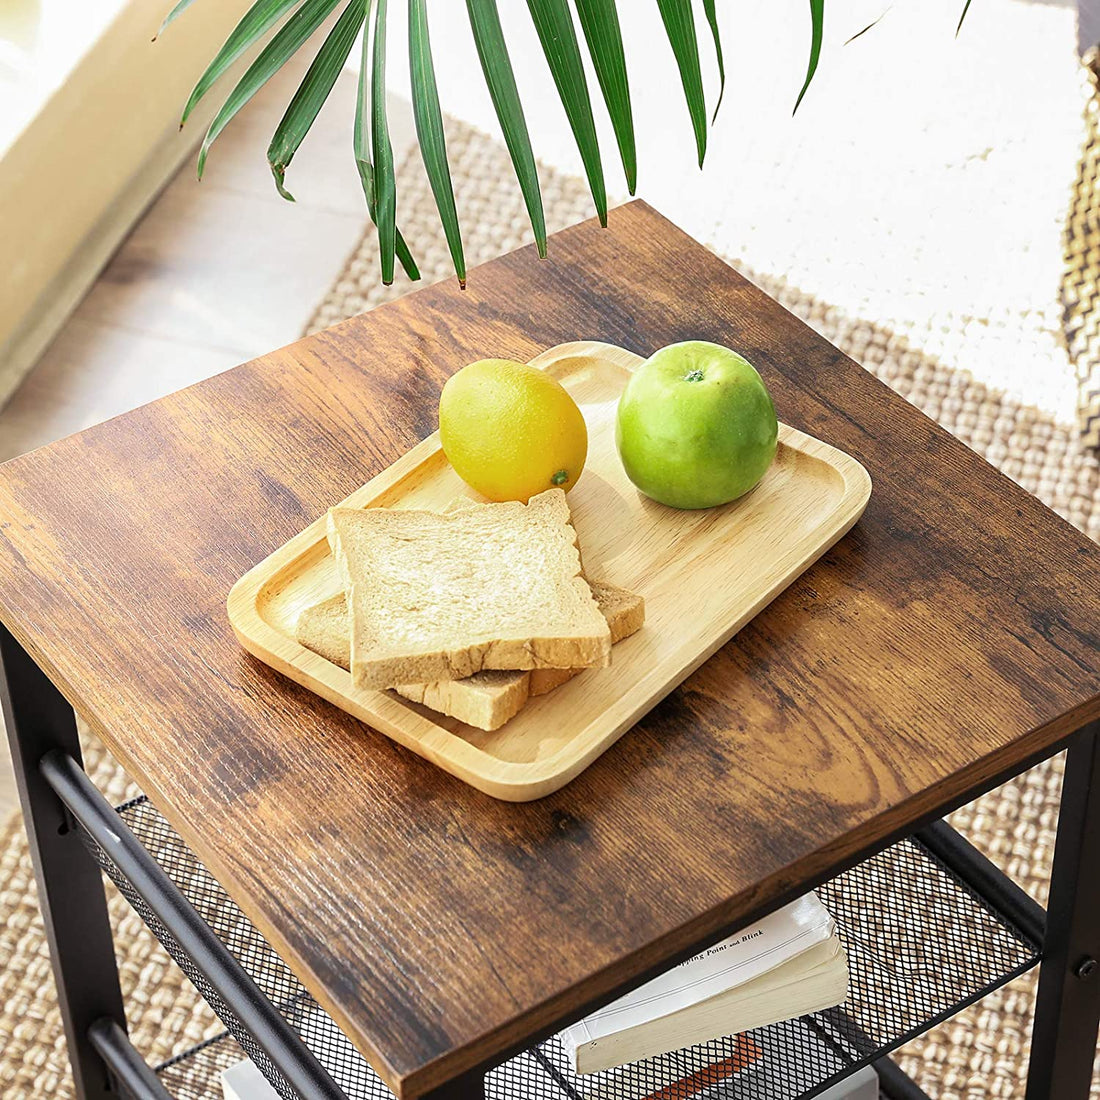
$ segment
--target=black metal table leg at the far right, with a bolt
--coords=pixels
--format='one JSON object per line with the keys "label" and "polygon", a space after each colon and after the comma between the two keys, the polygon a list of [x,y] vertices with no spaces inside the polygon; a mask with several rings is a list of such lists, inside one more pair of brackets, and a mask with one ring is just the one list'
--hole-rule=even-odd
{"label": "black metal table leg at the far right, with a bolt", "polygon": [[1066,757],[1026,1100],[1086,1100],[1100,1022],[1100,723]]}

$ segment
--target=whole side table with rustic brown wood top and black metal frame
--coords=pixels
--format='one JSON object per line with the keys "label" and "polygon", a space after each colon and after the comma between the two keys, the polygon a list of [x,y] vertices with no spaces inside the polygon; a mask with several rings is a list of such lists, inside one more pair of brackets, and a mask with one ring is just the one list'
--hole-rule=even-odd
{"label": "whole side table with rustic brown wood top and black metal frame", "polygon": [[[428,435],[465,362],[688,338],[743,350],[875,493],[563,790],[495,802],[237,646],[237,576]],[[80,1100],[197,1098],[186,1067],[232,1056],[131,1045],[100,867],[287,1100],[793,1100],[868,1062],[914,1100],[887,1053],[1040,958],[1027,1100],[1084,1100],[1097,561],[641,202],[4,464],[4,719]],[[96,791],[74,706],[147,798]],[[1062,749],[1044,914],[941,818]],[[754,1033],[752,1072],[727,1041],[571,1075],[561,1027],[813,888],[853,957],[842,1009]]]}

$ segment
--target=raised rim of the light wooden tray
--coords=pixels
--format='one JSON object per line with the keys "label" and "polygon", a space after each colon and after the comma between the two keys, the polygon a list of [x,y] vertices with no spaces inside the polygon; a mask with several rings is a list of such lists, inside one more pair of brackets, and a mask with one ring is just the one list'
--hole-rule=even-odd
{"label": "raised rim of the light wooden tray", "polygon": [[[553,374],[568,361],[581,358],[602,359],[628,371],[634,371],[644,362],[642,356],[615,344],[603,341],[575,340],[548,348],[534,356],[530,363],[532,366],[538,366]],[[800,431],[798,428],[792,428],[790,425],[780,424],[779,431],[780,442],[824,462],[842,479],[844,488],[829,516],[831,521],[807,532],[802,541],[810,541],[810,537],[818,531],[824,532],[824,538],[820,541],[815,540],[813,548],[799,557],[798,564],[769,587],[743,617],[730,625],[728,630],[723,630],[713,644],[703,647],[691,661],[678,669],[671,678],[664,678],[671,682],[671,686],[667,691],[661,691],[647,700],[642,710],[634,711],[627,718],[616,718],[612,723],[609,732],[595,738],[583,752],[570,751],[570,745],[566,744],[553,756],[542,760],[527,762],[501,760],[432,722],[415,710],[407,701],[399,700],[385,691],[358,691],[355,695],[362,700],[359,702],[332,682],[338,676],[349,676],[345,670],[306,649],[296,639],[267,623],[257,607],[261,597],[285,569],[306,553],[314,551],[319,542],[327,542],[326,517],[328,509],[253,565],[233,584],[227,598],[230,625],[242,648],[254,658],[471,787],[507,802],[529,802],[543,798],[564,787],[590,763],[598,759],[666,694],[682,683],[798,576],[835,546],[862,515],[871,494],[871,479],[862,464],[847,452]],[[380,471],[370,481],[350,493],[343,501],[329,507],[364,507],[393,491],[425,462],[436,459],[441,450],[439,432],[435,431],[411,447],[385,470]],[[316,670],[316,674],[311,672],[311,669]],[[620,704],[622,701],[619,701],[619,707]],[[474,759],[484,757],[492,762],[494,774],[488,777],[470,767],[462,759],[463,756],[472,756]],[[569,762],[560,765],[559,761],[562,757],[568,757]]]}

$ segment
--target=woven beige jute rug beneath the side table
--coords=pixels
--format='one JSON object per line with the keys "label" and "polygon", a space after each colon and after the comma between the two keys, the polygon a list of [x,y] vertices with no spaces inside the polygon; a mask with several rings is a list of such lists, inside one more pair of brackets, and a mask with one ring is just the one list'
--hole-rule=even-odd
{"label": "woven beige jute rug beneath the side table", "polygon": [[[528,226],[502,146],[468,128],[454,125],[449,133],[472,266],[526,243]],[[590,202],[581,183],[550,170],[543,170],[542,183],[551,229],[587,217]],[[451,277],[431,194],[416,157],[403,166],[398,193],[403,231],[425,282]],[[897,336],[889,318],[872,322],[849,316],[778,275],[746,274],[1009,476],[1092,538],[1100,538],[1100,466],[1078,453],[1071,426],[977,383],[965,372],[943,366]],[[310,328],[331,324],[411,288],[407,283],[378,286],[373,237],[367,233],[318,307]],[[125,777],[91,743],[87,763],[111,798],[127,796]],[[1060,782],[1062,761],[1056,759],[953,817],[956,827],[1041,902],[1046,900]],[[157,1060],[217,1033],[218,1022],[194,988],[125,902],[113,890],[109,893],[122,983],[139,1047]],[[0,1094],[7,1100],[67,1100],[72,1087],[64,1043],[18,820],[0,832]],[[1033,977],[1013,982],[910,1044],[901,1054],[902,1065],[939,1100],[1022,1097],[1033,998]],[[218,1094],[211,1082],[209,1096]],[[1094,1088],[1093,1094],[1100,1097],[1100,1089]]]}

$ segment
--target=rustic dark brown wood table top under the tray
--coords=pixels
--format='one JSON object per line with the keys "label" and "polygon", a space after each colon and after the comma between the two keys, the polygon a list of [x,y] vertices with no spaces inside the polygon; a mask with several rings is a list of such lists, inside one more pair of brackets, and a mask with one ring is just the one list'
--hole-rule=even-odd
{"label": "rustic dark brown wood table top under the tray", "polygon": [[[854,530],[574,782],[481,794],[246,656],[231,584],[449,374],[703,338],[848,451]],[[640,202],[0,468],[0,618],[403,1097],[1100,715],[1098,548]]]}

